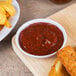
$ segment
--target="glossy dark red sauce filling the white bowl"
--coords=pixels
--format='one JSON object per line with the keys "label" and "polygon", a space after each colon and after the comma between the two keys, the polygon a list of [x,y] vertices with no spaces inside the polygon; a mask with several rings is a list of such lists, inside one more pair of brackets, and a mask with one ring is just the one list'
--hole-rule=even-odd
{"label": "glossy dark red sauce filling the white bowl", "polygon": [[[51,26],[50,26],[51,25]],[[38,22],[25,28],[19,36],[21,48],[33,55],[48,55],[63,44],[61,30],[53,24]]]}

